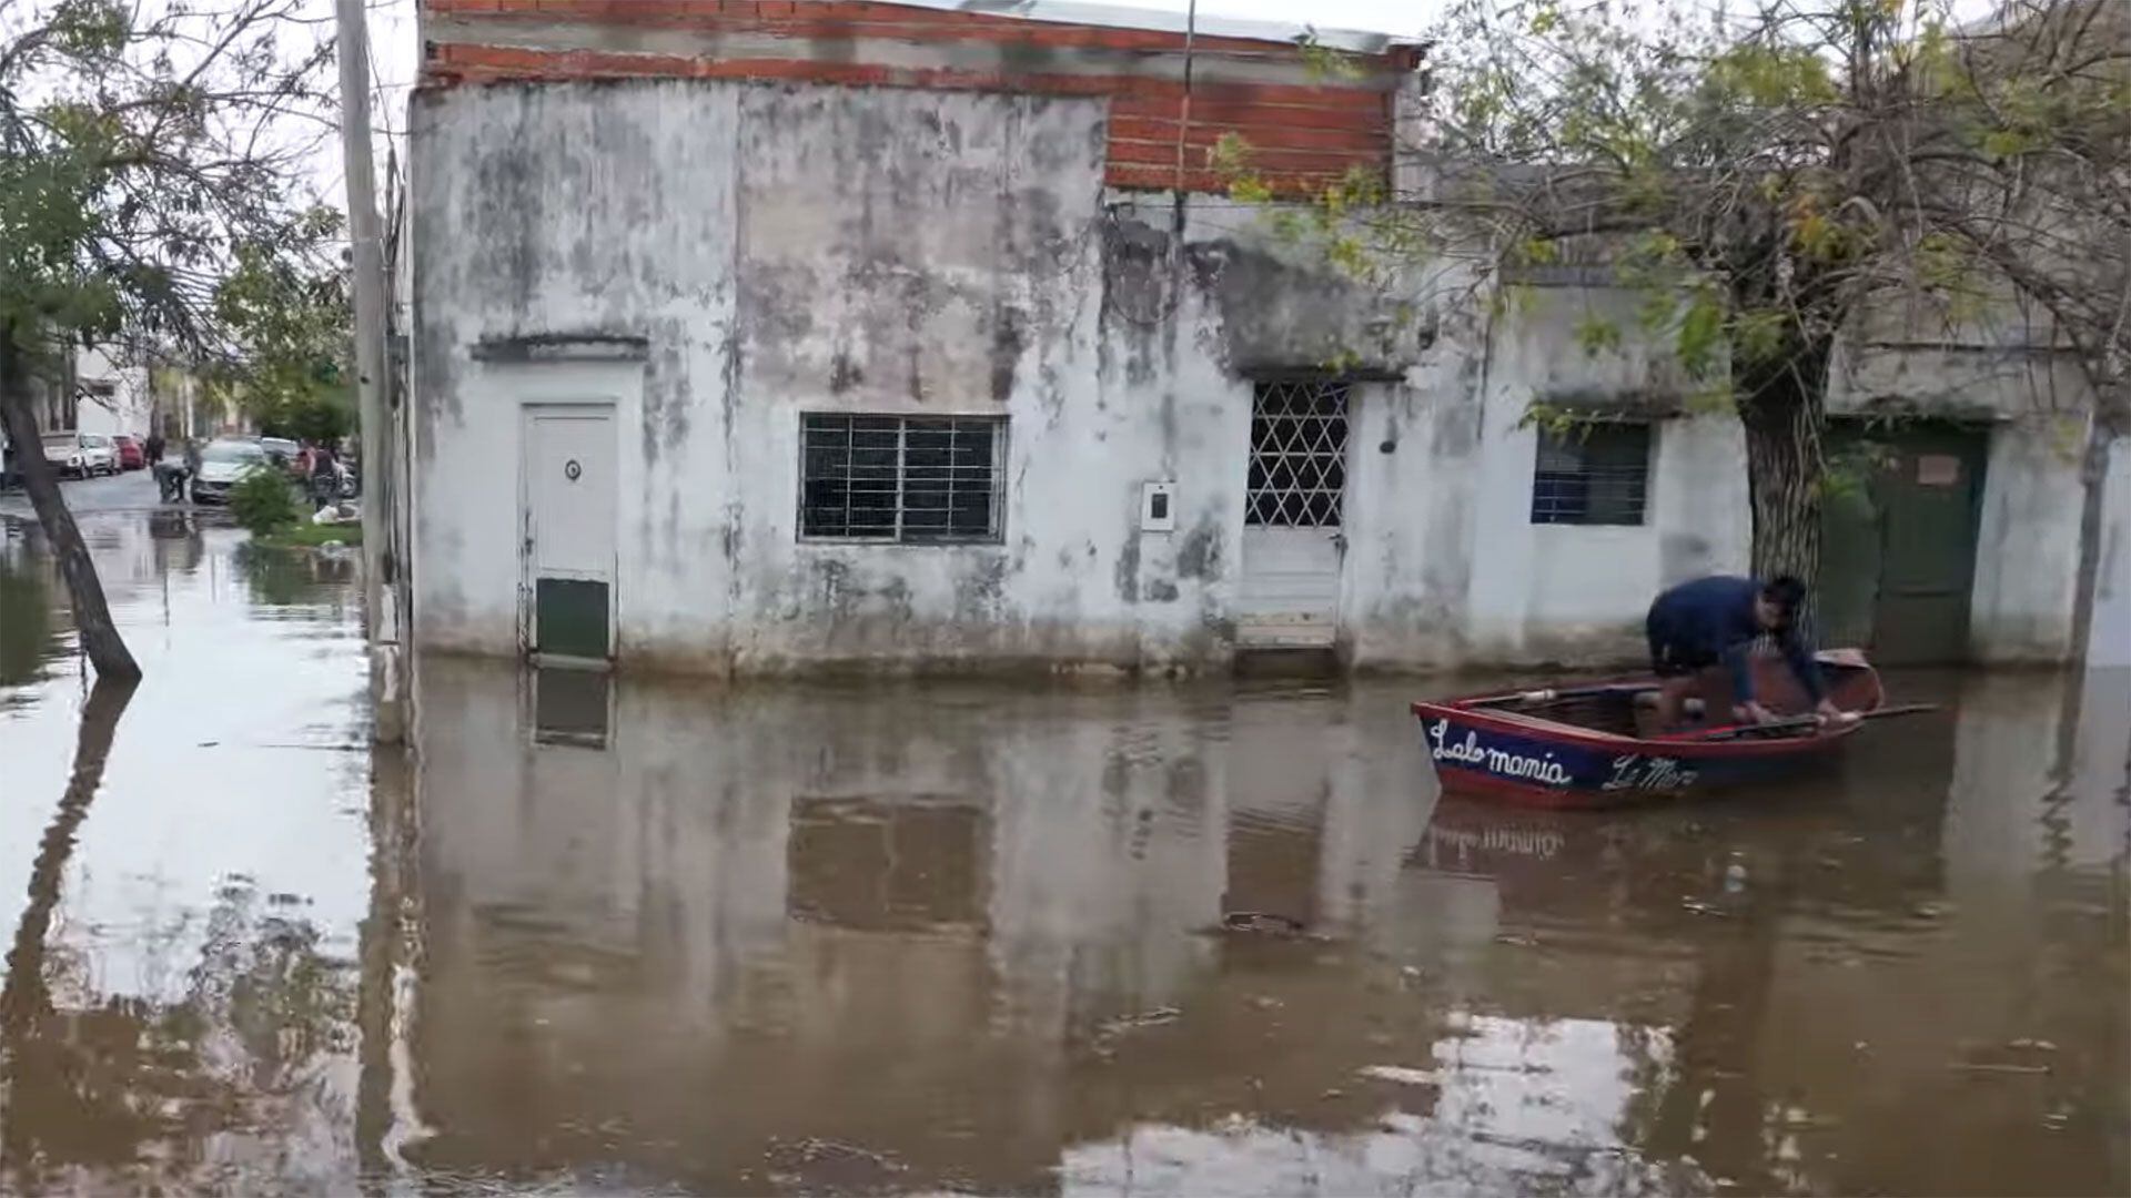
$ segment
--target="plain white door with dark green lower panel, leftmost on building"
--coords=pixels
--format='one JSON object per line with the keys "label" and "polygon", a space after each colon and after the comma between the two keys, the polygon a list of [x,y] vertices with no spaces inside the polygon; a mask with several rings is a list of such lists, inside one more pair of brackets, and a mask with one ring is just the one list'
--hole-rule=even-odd
{"label": "plain white door with dark green lower panel, leftmost on building", "polygon": [[614,407],[526,405],[526,648],[541,657],[614,652]]}

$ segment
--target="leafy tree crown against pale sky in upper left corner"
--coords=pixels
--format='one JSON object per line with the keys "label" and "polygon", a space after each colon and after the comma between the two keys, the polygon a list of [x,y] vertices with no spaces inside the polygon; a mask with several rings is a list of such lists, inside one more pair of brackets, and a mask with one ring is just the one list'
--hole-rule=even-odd
{"label": "leafy tree crown against pale sky in upper left corner", "polygon": [[286,119],[330,117],[330,43],[290,0],[9,6],[0,32],[0,335],[234,360],[222,279],[315,273],[335,226],[300,203]]}

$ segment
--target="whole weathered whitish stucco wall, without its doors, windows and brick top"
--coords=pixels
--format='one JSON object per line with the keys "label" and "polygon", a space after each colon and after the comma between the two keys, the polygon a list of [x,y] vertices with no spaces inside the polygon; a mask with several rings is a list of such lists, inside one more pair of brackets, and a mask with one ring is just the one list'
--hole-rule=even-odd
{"label": "whole weathered whitish stucco wall, without its doors, windows and brick top", "polygon": [[[1577,345],[1592,311],[1634,328],[1632,294],[1541,288],[1490,318],[1455,258],[1389,294],[1343,281],[1249,209],[1106,190],[1106,104],[680,79],[418,96],[418,640],[516,652],[520,407],[590,399],[620,428],[624,661],[1219,667],[1253,379],[1334,356],[1360,367],[1349,663],[1634,657],[1656,590],[1745,569],[1737,422],[1683,416],[1662,347]],[[492,352],[558,339],[637,356]],[[1920,386],[1837,405],[1897,384]],[[1530,522],[1534,399],[1654,422],[1643,524]],[[806,411],[1004,416],[1004,537],[801,541]],[[1986,657],[2069,631],[2078,488],[2050,428],[2003,420],[1992,443]],[[1172,533],[1140,531],[1146,482],[1176,486]]]}

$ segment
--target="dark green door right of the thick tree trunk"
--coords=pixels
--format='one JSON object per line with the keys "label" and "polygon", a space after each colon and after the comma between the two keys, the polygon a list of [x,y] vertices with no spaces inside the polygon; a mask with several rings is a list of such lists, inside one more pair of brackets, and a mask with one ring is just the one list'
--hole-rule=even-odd
{"label": "dark green door right of the thick tree trunk", "polygon": [[1880,665],[1967,659],[1988,433],[1837,424],[1828,448],[1858,486],[1822,507],[1822,644],[1860,644]]}

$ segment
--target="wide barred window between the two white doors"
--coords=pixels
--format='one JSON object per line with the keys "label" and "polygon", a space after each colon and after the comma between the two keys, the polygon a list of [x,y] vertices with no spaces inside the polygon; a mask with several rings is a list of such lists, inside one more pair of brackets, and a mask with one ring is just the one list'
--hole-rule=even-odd
{"label": "wide barred window between the two white doors", "polygon": [[1006,420],[806,414],[799,441],[801,537],[999,539]]}

